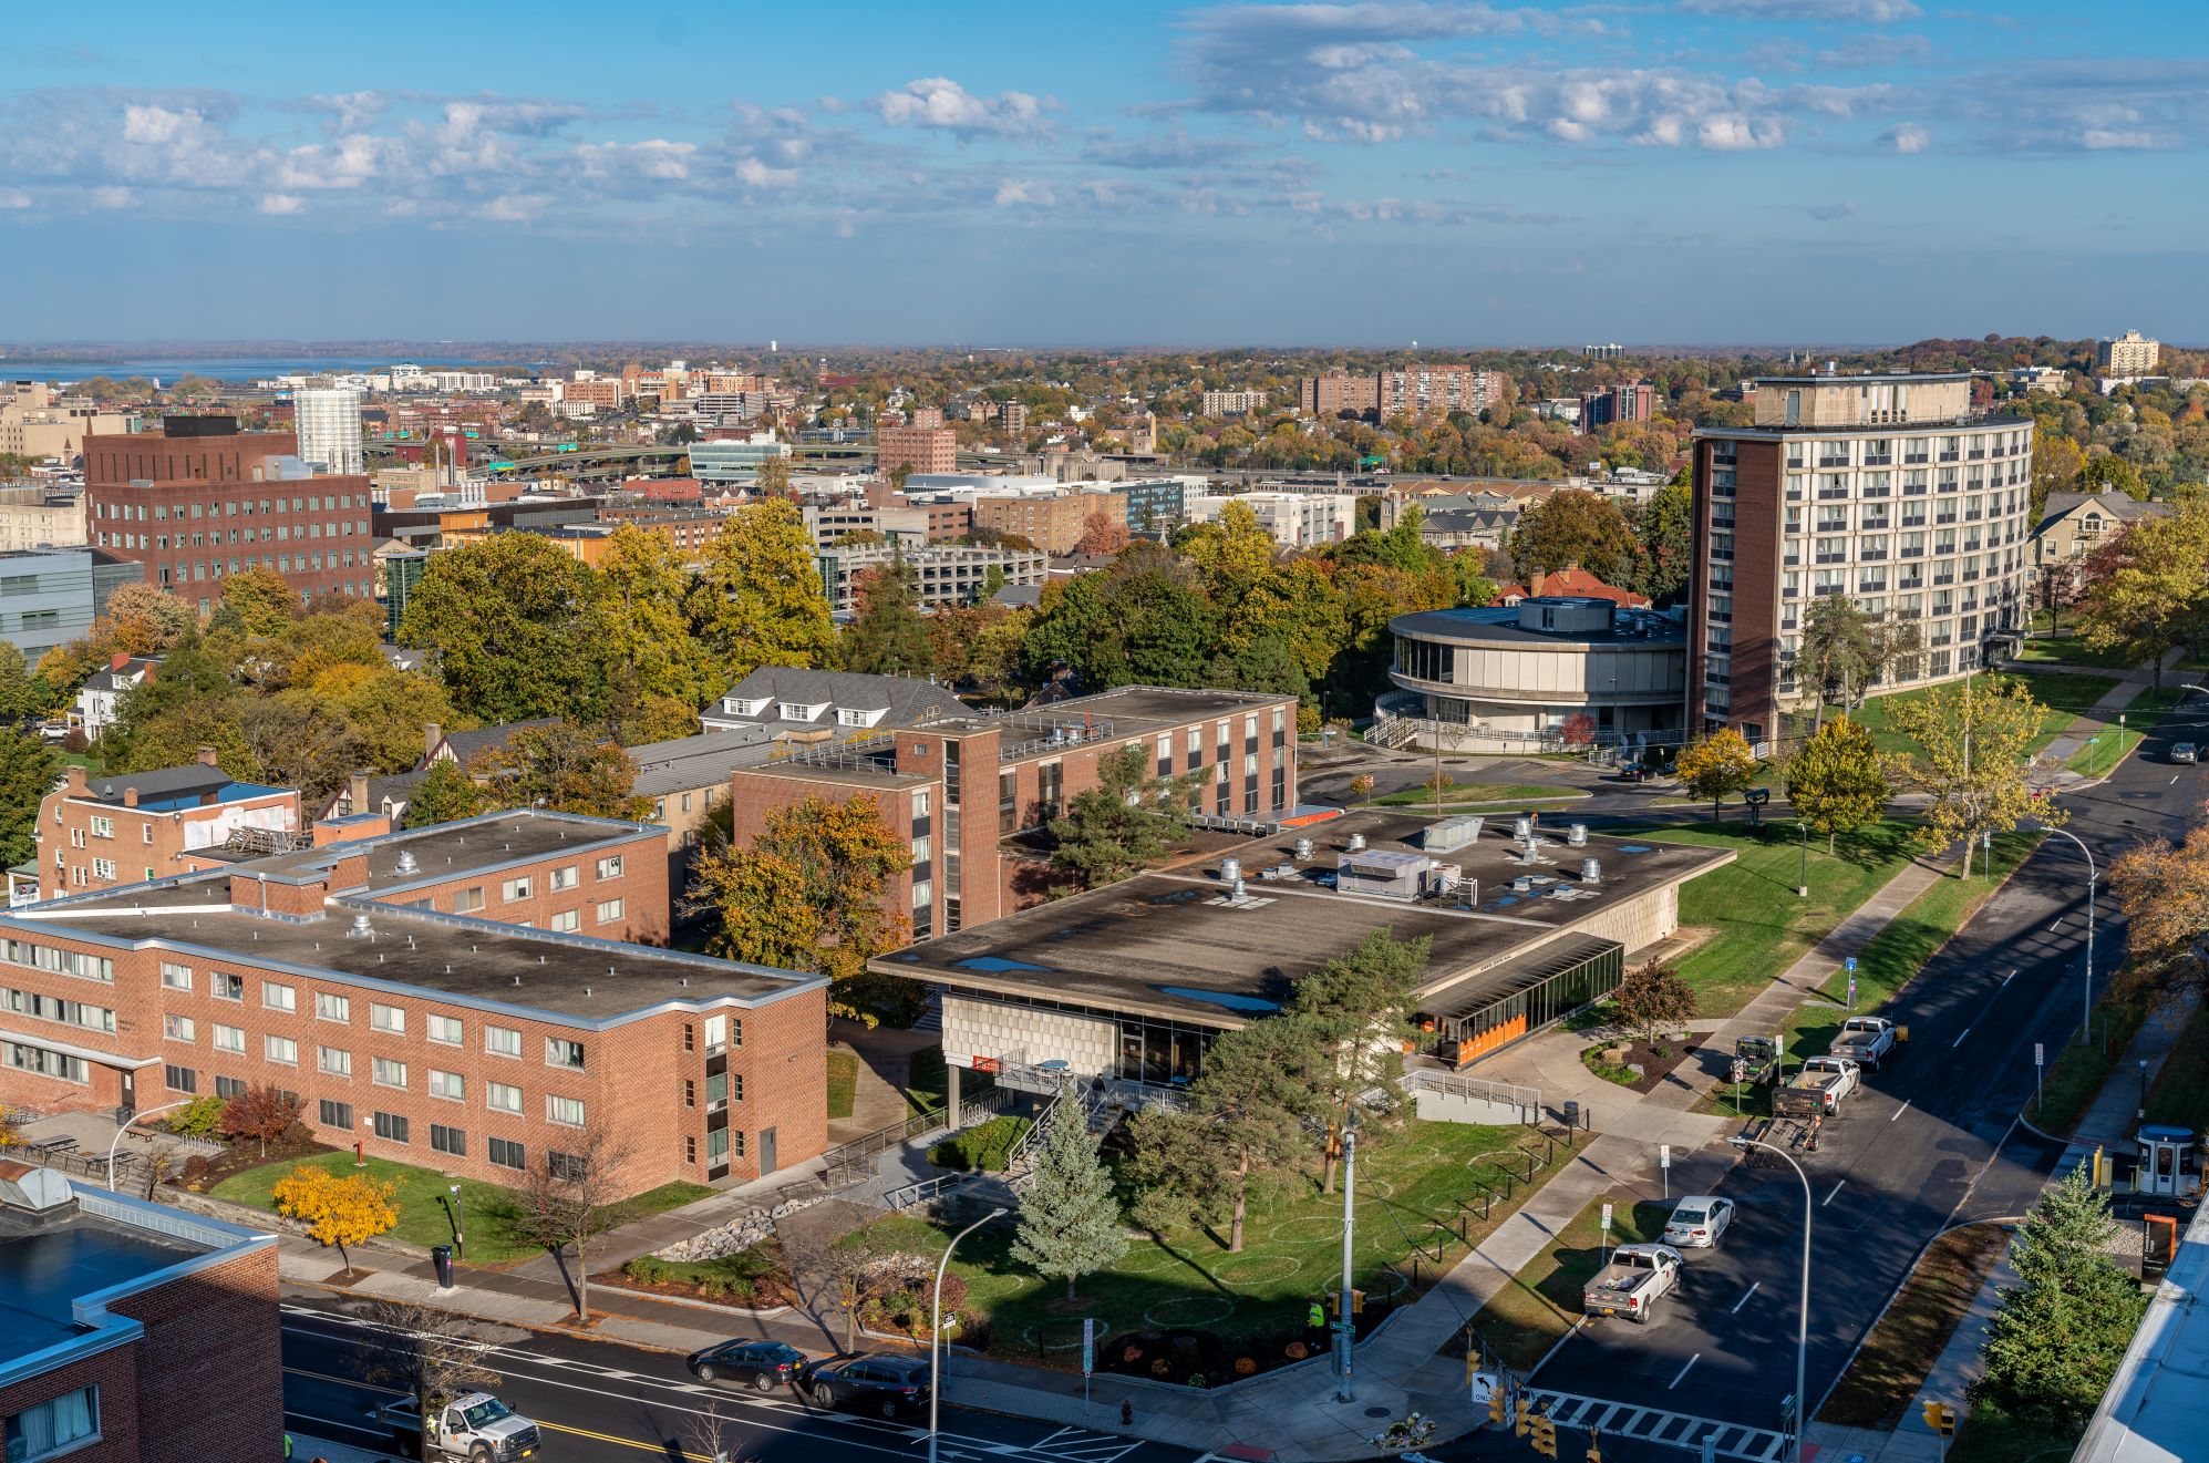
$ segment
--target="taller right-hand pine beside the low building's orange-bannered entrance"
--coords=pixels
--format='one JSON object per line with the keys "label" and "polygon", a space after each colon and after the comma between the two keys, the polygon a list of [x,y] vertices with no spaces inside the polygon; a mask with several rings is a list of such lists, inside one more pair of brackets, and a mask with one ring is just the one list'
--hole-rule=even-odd
{"label": "taller right-hand pine beside the low building's orange-bannered entrance", "polygon": [[1325,1112],[1321,1191],[1334,1193],[1334,1165],[1352,1120],[1385,1120],[1398,1107],[1403,1050],[1414,1041],[1412,1010],[1427,977],[1431,941],[1372,930],[1301,981],[1290,1014],[1301,1023],[1312,1094]]}

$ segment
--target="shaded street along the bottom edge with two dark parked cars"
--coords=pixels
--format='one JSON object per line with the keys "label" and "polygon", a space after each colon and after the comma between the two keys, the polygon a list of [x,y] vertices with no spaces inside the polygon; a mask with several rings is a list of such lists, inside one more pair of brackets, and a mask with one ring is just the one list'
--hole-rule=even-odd
{"label": "shaded street along the bottom edge with two dark parked cars", "polygon": [[[680,1357],[654,1350],[495,1328],[488,1366],[495,1392],[543,1430],[552,1463],[636,1463],[638,1452],[669,1463],[691,1456],[689,1428],[711,1406],[729,1423],[729,1456],[758,1463],[888,1463],[928,1456],[926,1412],[881,1421],[822,1412],[793,1392],[707,1386]],[[395,1397],[378,1386],[378,1333],[329,1295],[287,1295],[283,1311],[285,1421],[294,1432],[391,1452],[391,1434],[369,1412]],[[303,1452],[300,1456],[311,1456]],[[943,1408],[939,1454],[948,1463],[1188,1463],[1186,1448],[1142,1443],[1082,1428]]]}

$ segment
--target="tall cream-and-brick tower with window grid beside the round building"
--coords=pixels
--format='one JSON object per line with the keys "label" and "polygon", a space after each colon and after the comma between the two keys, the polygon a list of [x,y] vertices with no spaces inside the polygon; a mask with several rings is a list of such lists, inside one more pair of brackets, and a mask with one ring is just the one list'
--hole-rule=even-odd
{"label": "tall cream-and-brick tower with window grid beside the round building", "polygon": [[2023,621],[2030,488],[2032,424],[1977,415],[1968,373],[1758,380],[1752,427],[1694,435],[1688,725],[1776,738],[1820,594],[1917,628],[1882,687],[1979,667]]}

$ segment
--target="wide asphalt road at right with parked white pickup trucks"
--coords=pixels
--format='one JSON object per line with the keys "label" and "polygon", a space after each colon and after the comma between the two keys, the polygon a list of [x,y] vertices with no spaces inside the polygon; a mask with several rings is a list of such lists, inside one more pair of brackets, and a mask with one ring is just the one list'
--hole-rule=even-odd
{"label": "wide asphalt road at right with parked white pickup trucks", "polygon": [[[2202,740],[2200,714],[2174,712],[2114,778],[2065,798],[2070,831],[2103,871],[2141,838],[2182,835],[2202,807],[2209,782],[2167,760],[2174,740]],[[2021,1213],[2061,1156],[2017,1114],[2032,1098],[2034,1043],[2054,1054],[2079,1025],[2085,897],[2079,849],[2046,840],[1886,1008],[1911,1041],[1827,1125],[1820,1149],[1798,1154],[1814,1220],[1814,1401],[1933,1235]],[[2123,919],[2107,899],[2099,908],[2096,988],[2123,959]],[[1535,1386],[1776,1428],[1796,1390],[1805,1193],[1772,1162],[1736,1165],[1723,1180],[1719,1193],[1741,1204],[1734,1231],[1723,1249],[1690,1255],[1690,1280],[1661,1319],[1582,1328]]]}

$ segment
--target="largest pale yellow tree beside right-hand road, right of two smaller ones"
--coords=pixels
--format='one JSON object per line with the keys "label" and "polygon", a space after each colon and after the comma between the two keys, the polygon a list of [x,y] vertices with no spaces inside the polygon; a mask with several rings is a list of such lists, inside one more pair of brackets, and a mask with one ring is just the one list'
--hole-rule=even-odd
{"label": "largest pale yellow tree beside right-hand road, right of two smaller ones", "polygon": [[1973,844],[2008,833],[2021,818],[2048,827],[2068,820],[2061,804],[2032,796],[2032,740],[2048,707],[2008,676],[1968,676],[1895,698],[1889,718],[1920,751],[1893,760],[1895,778],[1931,793],[1917,844],[1946,851],[1964,842],[1959,877],[1970,875]]}

